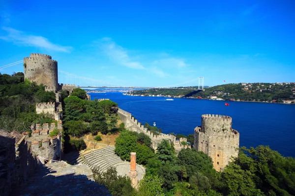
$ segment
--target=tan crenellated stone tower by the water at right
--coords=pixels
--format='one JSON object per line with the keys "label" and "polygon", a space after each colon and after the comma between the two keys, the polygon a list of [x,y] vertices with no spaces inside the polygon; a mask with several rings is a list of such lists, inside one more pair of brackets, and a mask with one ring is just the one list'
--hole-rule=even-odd
{"label": "tan crenellated stone tower by the water at right", "polygon": [[216,171],[223,171],[238,155],[239,133],[232,129],[232,118],[222,115],[202,115],[202,126],[194,131],[194,147],[212,158]]}

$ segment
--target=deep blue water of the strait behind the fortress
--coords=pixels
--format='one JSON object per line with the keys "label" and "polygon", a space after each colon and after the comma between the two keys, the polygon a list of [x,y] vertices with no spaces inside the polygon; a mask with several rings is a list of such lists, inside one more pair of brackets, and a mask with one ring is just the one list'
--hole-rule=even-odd
{"label": "deep blue water of the strait behind the fortress", "polygon": [[163,133],[193,134],[202,114],[223,114],[233,118],[240,133],[240,146],[268,145],[284,156],[295,157],[295,105],[228,102],[159,97],[133,97],[121,93],[90,93],[91,99],[110,98],[141,123],[156,123]]}

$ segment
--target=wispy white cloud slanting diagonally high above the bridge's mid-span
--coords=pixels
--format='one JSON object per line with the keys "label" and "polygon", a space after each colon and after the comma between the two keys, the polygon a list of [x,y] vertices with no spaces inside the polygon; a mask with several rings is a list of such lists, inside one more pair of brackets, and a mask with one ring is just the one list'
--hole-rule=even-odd
{"label": "wispy white cloud slanting diagonally high above the bridge's mid-span", "polygon": [[100,44],[103,52],[115,63],[132,69],[145,69],[140,62],[132,60],[127,50],[117,45],[111,38],[103,38]]}

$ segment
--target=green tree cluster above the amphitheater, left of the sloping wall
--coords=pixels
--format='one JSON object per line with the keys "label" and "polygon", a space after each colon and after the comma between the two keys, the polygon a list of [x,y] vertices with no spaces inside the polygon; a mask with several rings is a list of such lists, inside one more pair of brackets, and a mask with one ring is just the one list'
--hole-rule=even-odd
{"label": "green tree cluster above the amphitheater, left of the sloping wall", "polygon": [[[82,94],[81,90],[78,91],[80,94]],[[116,113],[113,114],[114,111],[116,112],[113,108],[117,105],[115,102],[86,100],[72,96],[72,94],[64,99],[63,121],[64,128],[69,135],[81,137],[89,131],[92,135],[96,135],[99,131],[107,134],[117,127],[118,117]]]}

